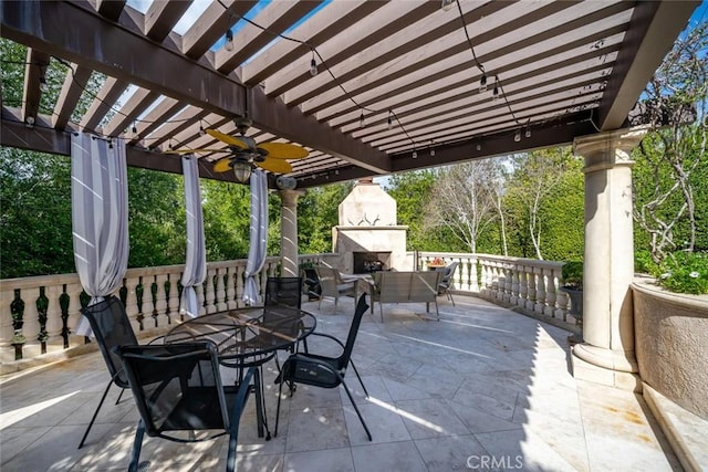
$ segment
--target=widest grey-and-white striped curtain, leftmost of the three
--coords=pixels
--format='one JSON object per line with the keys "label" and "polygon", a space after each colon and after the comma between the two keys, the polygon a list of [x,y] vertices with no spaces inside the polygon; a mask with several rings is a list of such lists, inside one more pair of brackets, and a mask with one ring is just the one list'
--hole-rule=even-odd
{"label": "widest grey-and-white striped curtain, leftmost of the three", "polygon": [[[90,305],[121,286],[128,263],[125,141],[87,134],[71,138],[74,263]],[[76,334],[92,335],[83,316]]]}

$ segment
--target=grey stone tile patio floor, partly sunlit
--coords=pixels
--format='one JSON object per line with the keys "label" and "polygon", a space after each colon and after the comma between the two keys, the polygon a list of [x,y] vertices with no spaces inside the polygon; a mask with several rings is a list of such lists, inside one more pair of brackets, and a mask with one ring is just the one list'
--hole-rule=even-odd
{"label": "grey stone tile patio floor, partly sunlit", "polygon": [[[347,376],[374,437],[368,442],[340,389],[299,386],[283,400],[278,438],[256,433],[253,397],[241,421],[239,471],[666,471],[676,457],[642,398],[575,380],[569,333],[475,297],[440,298],[365,315],[354,359],[371,394]],[[317,329],[344,338],[354,303],[303,304]],[[316,339],[323,340],[324,339]],[[320,346],[320,344],[317,344]],[[321,352],[313,340],[311,352]],[[326,349],[324,349],[326,352]],[[275,417],[267,365],[268,418]],[[76,450],[108,380],[98,353],[32,375],[0,379],[0,469],[126,470],[137,413],[113,388],[86,445]],[[177,444],[147,438],[150,471],[223,470],[226,441]]]}

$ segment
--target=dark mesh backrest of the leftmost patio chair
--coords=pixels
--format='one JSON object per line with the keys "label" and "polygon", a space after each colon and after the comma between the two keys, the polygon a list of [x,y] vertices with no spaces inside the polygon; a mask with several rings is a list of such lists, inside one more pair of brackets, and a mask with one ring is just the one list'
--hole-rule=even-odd
{"label": "dark mesh backrest of the leftmost patio chair", "polygon": [[128,379],[114,348],[137,344],[137,338],[123,303],[115,296],[107,296],[102,302],[86,306],[81,313],[88,319],[113,381],[121,388],[128,388]]}

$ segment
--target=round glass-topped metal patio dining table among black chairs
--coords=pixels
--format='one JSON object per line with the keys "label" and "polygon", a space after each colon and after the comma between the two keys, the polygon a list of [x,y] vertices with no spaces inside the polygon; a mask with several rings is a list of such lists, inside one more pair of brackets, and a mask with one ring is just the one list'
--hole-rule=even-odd
{"label": "round glass-topped metal patio dining table among black chairs", "polygon": [[219,354],[219,363],[238,369],[258,366],[254,373],[257,397],[258,436],[268,431],[261,366],[272,359],[278,350],[291,349],[305,339],[316,326],[316,318],[309,312],[291,306],[242,307],[216,312],[185,321],[165,335],[165,343],[212,343]]}

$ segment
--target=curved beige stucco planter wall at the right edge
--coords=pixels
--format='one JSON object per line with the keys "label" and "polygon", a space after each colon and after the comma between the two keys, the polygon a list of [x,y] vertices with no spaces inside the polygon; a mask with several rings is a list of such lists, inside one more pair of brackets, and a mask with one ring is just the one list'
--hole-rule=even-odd
{"label": "curved beige stucco planter wall at the right edge", "polygon": [[708,420],[708,297],[635,283],[639,376],[680,407]]}

